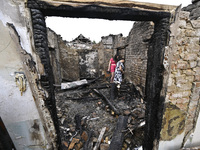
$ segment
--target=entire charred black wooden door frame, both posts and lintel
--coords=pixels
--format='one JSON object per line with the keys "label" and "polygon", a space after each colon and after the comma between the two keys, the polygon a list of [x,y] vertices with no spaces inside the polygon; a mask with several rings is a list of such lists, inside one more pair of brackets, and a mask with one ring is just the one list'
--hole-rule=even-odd
{"label": "entire charred black wooden door frame, both posts and lintel", "polygon": [[[58,144],[60,144],[58,119],[56,116],[55,97],[53,90],[53,72],[50,65],[49,49],[47,41],[47,30],[45,24],[46,16],[77,17],[77,18],[99,18],[108,20],[131,20],[131,21],[154,21],[155,31],[150,41],[148,50],[148,64],[146,76],[145,101],[146,127],[143,148],[153,149],[155,143],[158,144],[161,130],[161,122],[164,109],[165,95],[161,96],[163,84],[163,56],[167,44],[169,18],[171,13],[164,11],[147,11],[136,8],[99,6],[88,4],[82,6],[60,5],[53,6],[47,2],[39,0],[28,0],[28,8],[32,15],[34,31],[34,42],[36,53],[40,56],[44,64],[45,74],[41,78],[41,85],[49,92],[46,106],[51,112],[57,133]],[[164,87],[166,88],[166,87]]]}

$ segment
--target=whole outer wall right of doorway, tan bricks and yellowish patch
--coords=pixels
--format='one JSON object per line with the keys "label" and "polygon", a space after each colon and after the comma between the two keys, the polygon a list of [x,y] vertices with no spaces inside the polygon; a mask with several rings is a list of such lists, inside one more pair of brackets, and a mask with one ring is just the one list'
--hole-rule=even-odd
{"label": "whole outer wall right of doorway, tan bricks and yellowish patch", "polygon": [[199,128],[196,123],[200,101],[200,22],[192,18],[196,17],[181,11],[177,23],[171,25],[164,61],[169,80],[159,149],[179,149],[186,141],[186,147],[192,147],[200,142],[199,136],[196,143],[192,142],[194,129]]}

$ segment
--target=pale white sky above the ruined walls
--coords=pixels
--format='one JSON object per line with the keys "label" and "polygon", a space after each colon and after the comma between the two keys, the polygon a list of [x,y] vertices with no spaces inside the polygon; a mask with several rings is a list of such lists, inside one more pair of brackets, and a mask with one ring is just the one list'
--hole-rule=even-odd
{"label": "pale white sky above the ruined walls", "polygon": [[[191,4],[192,0],[135,0],[138,2],[150,2],[168,5],[180,5],[182,7]],[[102,36],[109,34],[120,34],[128,36],[133,26],[133,21],[109,21],[103,19],[87,18],[61,18],[47,17],[47,27],[50,27],[57,34],[60,34],[64,40],[71,41],[78,35],[83,34],[91,41],[99,42]]]}

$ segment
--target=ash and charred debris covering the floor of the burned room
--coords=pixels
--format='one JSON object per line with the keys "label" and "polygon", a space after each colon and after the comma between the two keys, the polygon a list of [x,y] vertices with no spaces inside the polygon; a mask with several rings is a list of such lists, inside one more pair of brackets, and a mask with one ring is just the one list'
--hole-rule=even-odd
{"label": "ash and charred debris covering the floor of the burned room", "polygon": [[[107,150],[114,139],[114,133],[117,132],[119,116],[128,118],[125,129],[121,131],[123,132],[122,149],[132,150],[142,145],[145,103],[133,84],[125,81],[117,90],[118,96],[111,100],[111,87],[108,80],[102,76],[90,84],[77,88],[56,89],[63,150],[92,150],[96,147],[99,150]],[[113,106],[110,106],[105,98]],[[105,127],[105,132],[101,133]],[[103,134],[102,139],[100,134]],[[101,139],[100,143],[99,139]]]}

